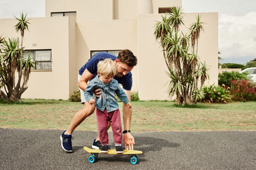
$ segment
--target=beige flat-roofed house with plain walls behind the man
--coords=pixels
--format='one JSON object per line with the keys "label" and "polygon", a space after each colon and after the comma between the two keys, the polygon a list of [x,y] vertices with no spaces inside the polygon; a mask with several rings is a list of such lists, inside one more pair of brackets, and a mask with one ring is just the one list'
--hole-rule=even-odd
{"label": "beige flat-roofed house with plain walls behind the man", "polygon": [[[45,0],[45,17],[30,18],[24,46],[32,50],[36,69],[22,98],[68,99],[77,89],[78,70],[93,53],[128,48],[138,57],[132,91],[141,100],[168,100],[163,52],[154,24],[181,0]],[[197,13],[186,13],[186,31]],[[205,22],[198,55],[209,67],[207,84],[218,84],[218,13],[200,13]],[[18,37],[15,19],[0,19],[0,35]]]}

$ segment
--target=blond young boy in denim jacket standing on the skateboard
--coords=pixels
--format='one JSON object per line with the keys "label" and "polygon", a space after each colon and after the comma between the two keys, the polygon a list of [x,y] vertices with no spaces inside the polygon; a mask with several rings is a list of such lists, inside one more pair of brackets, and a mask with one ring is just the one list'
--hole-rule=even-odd
{"label": "blond young boy in denim jacket standing on the skateboard", "polygon": [[[129,108],[131,108],[132,105],[125,92],[119,87],[118,81],[113,79],[113,76],[116,74],[116,66],[113,60],[101,60],[97,64],[97,69],[97,76],[88,83],[88,87],[86,87],[84,91],[84,98],[89,104],[95,104],[97,108],[97,127],[100,143],[102,144],[100,152],[108,152],[108,122],[110,122],[116,145],[116,153],[124,153],[124,148],[122,147],[120,111],[115,95],[117,95],[122,102],[127,104]],[[96,101],[93,99],[93,90],[95,89],[101,89],[100,97],[96,97]]]}

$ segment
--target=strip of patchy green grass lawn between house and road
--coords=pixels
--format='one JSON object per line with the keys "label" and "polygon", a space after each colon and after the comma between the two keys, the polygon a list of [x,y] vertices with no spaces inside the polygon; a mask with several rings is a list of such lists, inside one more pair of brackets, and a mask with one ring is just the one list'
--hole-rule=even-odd
{"label": "strip of patchy green grass lawn between house and road", "polygon": [[[122,103],[119,103],[122,113]],[[20,129],[67,129],[80,103],[22,99],[0,102],[0,127]],[[95,114],[76,130],[97,131]],[[172,101],[132,103],[132,132],[256,130],[256,102],[176,106]]]}

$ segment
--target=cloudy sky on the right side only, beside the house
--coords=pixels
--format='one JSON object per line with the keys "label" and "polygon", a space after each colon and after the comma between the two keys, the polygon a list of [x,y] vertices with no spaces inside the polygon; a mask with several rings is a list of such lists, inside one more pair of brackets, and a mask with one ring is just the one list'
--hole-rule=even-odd
{"label": "cloudy sky on the right side only, beside the house", "polygon": [[[200,4],[200,5],[198,5]],[[218,12],[221,63],[256,58],[256,0],[182,0],[184,12]]]}

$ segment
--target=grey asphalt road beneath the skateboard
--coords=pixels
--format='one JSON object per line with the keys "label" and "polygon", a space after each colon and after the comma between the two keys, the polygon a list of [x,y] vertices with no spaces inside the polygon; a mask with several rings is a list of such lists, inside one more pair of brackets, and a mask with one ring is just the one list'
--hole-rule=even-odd
{"label": "grey asphalt road beneath the skateboard", "polygon": [[[127,155],[100,154],[90,164],[96,132],[75,131],[73,153],[60,145],[61,131],[0,129],[1,169],[256,169],[256,131],[133,133],[138,164]],[[113,137],[109,133],[110,145]]]}

